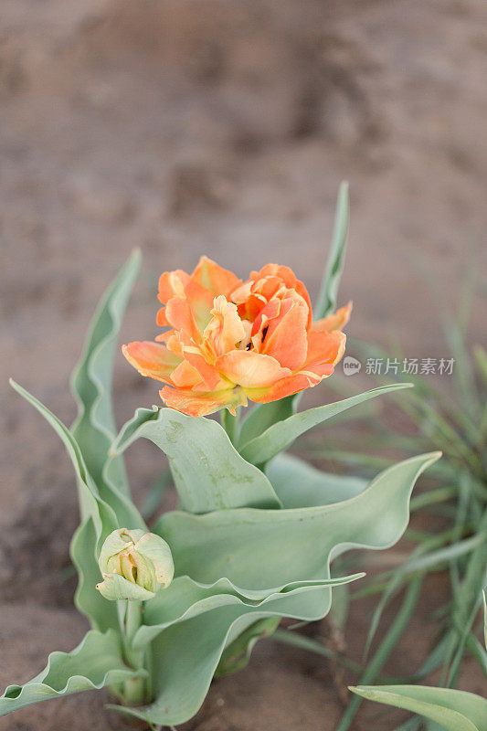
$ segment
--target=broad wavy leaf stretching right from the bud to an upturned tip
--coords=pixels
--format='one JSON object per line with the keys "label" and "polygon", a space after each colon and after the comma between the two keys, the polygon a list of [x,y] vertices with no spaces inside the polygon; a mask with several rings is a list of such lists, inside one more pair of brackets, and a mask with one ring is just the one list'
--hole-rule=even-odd
{"label": "broad wavy leaf stretching right from the bud to an upturned tip", "polygon": [[342,503],[292,510],[192,515],[168,513],[154,532],[173,551],[176,575],[201,583],[228,577],[240,588],[270,588],[327,578],[330,561],[354,547],[386,548],[408,524],[418,476],[439,452],[400,462]]}

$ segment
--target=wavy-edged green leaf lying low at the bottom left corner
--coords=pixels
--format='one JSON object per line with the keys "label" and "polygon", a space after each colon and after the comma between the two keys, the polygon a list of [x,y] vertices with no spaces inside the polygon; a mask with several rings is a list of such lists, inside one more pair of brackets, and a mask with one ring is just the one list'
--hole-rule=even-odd
{"label": "wavy-edged green leaf lying low at the bottom left corner", "polygon": [[9,685],[0,698],[0,715],[63,695],[103,688],[140,677],[122,661],[117,633],[90,630],[71,652],[51,652],[47,667],[25,685]]}

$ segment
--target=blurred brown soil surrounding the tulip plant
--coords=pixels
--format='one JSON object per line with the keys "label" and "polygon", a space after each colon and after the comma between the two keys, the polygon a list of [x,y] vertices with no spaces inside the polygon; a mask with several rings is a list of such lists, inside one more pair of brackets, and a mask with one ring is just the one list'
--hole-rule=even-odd
{"label": "blurred brown soil surrounding the tulip plant", "polygon": [[[350,334],[386,344],[399,333],[410,357],[446,355],[418,261],[450,303],[467,260],[487,273],[486,20],[482,0],[3,0],[1,685],[26,681],[86,629],[71,609],[69,461],[7,376],[74,418],[69,372],[133,247],[143,272],[124,342],[155,334],[160,271],[191,269],[201,253],[240,276],[289,264],[315,293],[344,178]],[[481,302],[474,312],[472,344],[487,334]],[[156,398],[120,357],[119,422]],[[132,448],[138,499],[160,466],[148,443]],[[418,664],[445,586],[439,577],[424,593],[389,673]],[[346,630],[355,659],[371,609],[355,607]],[[469,663],[466,673],[480,692]],[[122,731],[90,696],[26,708],[0,729]],[[185,727],[332,731],[340,712],[322,660],[262,641]],[[393,718],[367,705],[356,727],[386,731]]]}

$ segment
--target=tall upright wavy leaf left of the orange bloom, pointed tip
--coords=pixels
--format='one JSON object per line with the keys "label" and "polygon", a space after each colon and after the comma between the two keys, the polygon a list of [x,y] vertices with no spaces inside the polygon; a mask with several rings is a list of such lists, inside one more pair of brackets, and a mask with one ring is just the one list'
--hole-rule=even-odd
{"label": "tall upright wavy leaf left of the orange bloom, pointed tip", "polygon": [[[122,315],[140,261],[140,251],[135,251],[101,298],[79,364],[71,377],[71,389],[78,404],[78,418],[71,433],[101,497],[111,504],[119,524],[131,528],[143,528],[145,524],[130,500],[122,457],[109,459],[111,442],[116,436],[111,383]],[[81,517],[85,517],[83,512]]]}

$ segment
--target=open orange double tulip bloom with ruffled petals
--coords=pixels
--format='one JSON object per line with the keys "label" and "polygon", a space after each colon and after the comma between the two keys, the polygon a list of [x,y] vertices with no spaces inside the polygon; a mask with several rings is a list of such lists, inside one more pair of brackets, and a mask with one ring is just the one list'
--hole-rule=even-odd
{"label": "open orange double tulip bloom with ruffled petals", "polygon": [[166,384],[166,406],[190,416],[235,414],[248,398],[268,403],[316,386],[344,355],[351,303],[313,323],[308,292],[289,267],[267,264],[242,282],[202,257],[191,275],[165,271],[158,296],[157,324],[170,329],[122,351]]}

